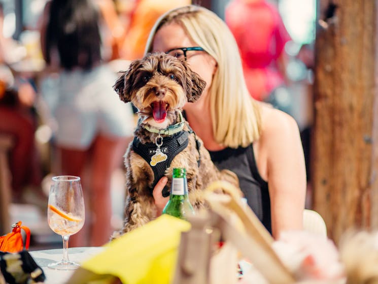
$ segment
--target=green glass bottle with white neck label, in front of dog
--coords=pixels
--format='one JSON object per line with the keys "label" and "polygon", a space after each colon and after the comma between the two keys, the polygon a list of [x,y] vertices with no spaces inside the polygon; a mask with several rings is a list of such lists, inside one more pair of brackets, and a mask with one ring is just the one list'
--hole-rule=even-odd
{"label": "green glass bottle with white neck label, in front of dog", "polygon": [[181,219],[186,219],[188,215],[194,214],[194,209],[188,196],[185,168],[173,169],[169,201],[163,209],[163,214],[172,215]]}

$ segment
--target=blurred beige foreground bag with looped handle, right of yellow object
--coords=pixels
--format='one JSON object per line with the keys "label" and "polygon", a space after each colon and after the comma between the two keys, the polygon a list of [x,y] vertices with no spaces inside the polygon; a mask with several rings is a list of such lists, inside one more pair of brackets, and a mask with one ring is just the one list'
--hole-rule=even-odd
{"label": "blurred beige foreground bag with looped handle, right of yellow object", "polygon": [[[219,190],[227,194],[215,193]],[[294,283],[271,247],[273,238],[232,184],[213,182],[204,198],[210,209],[189,218],[192,229],[182,233],[174,284],[236,283],[236,253],[249,259],[270,284]],[[224,245],[218,248],[220,240]]]}

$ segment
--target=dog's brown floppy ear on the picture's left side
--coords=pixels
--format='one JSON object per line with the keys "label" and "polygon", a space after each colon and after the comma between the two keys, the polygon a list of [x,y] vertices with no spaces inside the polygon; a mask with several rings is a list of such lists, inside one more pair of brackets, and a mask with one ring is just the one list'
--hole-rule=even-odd
{"label": "dog's brown floppy ear on the picture's left side", "polygon": [[120,71],[116,83],[113,85],[114,90],[118,93],[119,98],[128,103],[131,101],[131,88],[133,85],[134,71],[138,69],[140,60],[134,60],[130,63],[127,71]]}

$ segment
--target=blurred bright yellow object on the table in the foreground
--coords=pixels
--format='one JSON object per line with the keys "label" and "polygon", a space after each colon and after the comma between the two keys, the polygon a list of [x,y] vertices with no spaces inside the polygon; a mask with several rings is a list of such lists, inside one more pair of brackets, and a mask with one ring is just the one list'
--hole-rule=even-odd
{"label": "blurred bright yellow object on the table in the foreground", "polygon": [[104,252],[84,262],[67,283],[88,283],[113,275],[123,284],[169,284],[181,232],[190,227],[185,220],[163,214],[105,245]]}

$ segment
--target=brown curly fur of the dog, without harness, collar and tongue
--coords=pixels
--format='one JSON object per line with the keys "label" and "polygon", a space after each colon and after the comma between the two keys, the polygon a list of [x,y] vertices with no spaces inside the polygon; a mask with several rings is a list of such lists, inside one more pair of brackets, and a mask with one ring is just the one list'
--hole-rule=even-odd
{"label": "brown curly fur of the dog, without harness, collar and tongue", "polygon": [[[205,84],[205,81],[190,70],[186,61],[165,53],[153,53],[132,61],[129,69],[121,72],[114,89],[122,101],[131,102],[139,110],[139,121],[134,135],[141,143],[155,143],[158,134],[147,131],[146,124],[164,129],[177,123],[184,104],[198,100]],[[166,104],[167,116],[162,123],[156,123],[153,118],[153,103],[156,101]],[[185,124],[184,131],[188,130],[188,125]],[[161,137],[164,139],[166,135]],[[173,168],[186,168],[189,198],[195,208],[203,206],[203,200],[198,193],[212,181],[226,179],[238,185],[236,175],[227,170],[219,171],[212,163],[202,141],[199,138],[197,140],[201,145],[199,152],[194,134],[189,135],[188,146],[165,170],[165,176],[168,178],[166,186],[169,188]],[[138,228],[156,217],[152,196],[153,170],[143,157],[133,151],[132,143],[126,151],[124,162],[127,191],[125,220],[121,231],[115,232],[112,238]]]}

